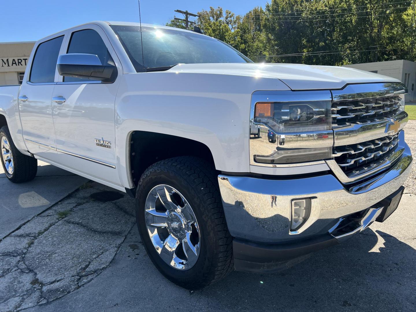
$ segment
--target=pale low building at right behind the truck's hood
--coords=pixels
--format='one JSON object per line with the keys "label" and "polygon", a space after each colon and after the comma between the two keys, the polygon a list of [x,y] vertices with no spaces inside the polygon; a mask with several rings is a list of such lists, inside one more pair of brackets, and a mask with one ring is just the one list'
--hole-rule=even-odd
{"label": "pale low building at right behind the truck's hood", "polygon": [[409,90],[406,94],[406,102],[416,101],[416,63],[399,59],[396,61],[372,62],[362,64],[343,65],[356,69],[362,69],[377,74],[386,75],[401,80]]}

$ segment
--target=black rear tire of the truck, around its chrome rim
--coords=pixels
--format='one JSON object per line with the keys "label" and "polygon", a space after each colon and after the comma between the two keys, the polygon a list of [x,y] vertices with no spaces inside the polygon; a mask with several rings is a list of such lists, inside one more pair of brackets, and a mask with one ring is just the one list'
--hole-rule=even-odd
{"label": "black rear tire of the truck, around its chrome rim", "polygon": [[9,128],[7,126],[4,126],[0,129],[0,144],[3,136],[7,139],[8,144],[10,146],[10,151],[13,155],[14,169],[12,174],[7,172],[3,158],[0,156],[2,167],[7,178],[13,183],[23,183],[33,180],[37,173],[37,159],[30,156],[26,156],[17,150],[15,144],[12,141]]}

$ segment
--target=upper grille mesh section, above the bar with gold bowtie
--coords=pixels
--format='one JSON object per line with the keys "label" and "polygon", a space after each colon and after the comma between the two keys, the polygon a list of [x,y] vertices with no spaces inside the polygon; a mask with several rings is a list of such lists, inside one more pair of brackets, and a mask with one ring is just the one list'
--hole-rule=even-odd
{"label": "upper grille mesh section, above the bar with gold bowtie", "polygon": [[397,95],[367,99],[343,99],[332,102],[332,123],[365,124],[380,118],[389,118],[400,109],[401,97]]}

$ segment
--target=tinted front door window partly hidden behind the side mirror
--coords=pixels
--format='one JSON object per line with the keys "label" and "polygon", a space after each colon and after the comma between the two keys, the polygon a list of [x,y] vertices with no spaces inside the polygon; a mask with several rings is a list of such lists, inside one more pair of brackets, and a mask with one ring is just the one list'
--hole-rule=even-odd
{"label": "tinted front door window partly hidden behind the side mirror", "polygon": [[[97,55],[102,65],[114,65],[113,59],[107,50],[101,36],[92,29],[79,30],[72,33],[67,53],[84,53]],[[64,77],[65,82],[69,81],[91,81],[85,78]]]}

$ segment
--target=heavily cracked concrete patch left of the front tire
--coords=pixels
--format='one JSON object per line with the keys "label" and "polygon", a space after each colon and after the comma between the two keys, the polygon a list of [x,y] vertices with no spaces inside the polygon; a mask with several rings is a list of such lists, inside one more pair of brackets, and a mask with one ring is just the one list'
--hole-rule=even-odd
{"label": "heavily cracked concrete patch left of the front tire", "polygon": [[134,200],[125,194],[109,203],[89,198],[103,190],[110,191],[86,183],[0,242],[0,312],[62,297],[109,265],[134,225]]}

